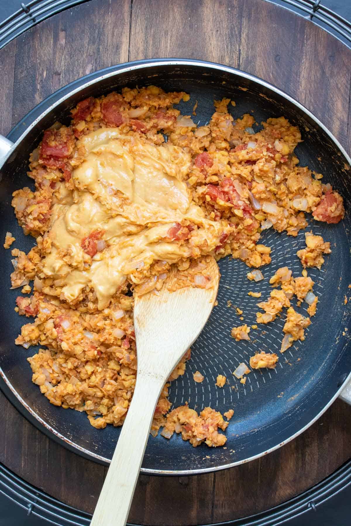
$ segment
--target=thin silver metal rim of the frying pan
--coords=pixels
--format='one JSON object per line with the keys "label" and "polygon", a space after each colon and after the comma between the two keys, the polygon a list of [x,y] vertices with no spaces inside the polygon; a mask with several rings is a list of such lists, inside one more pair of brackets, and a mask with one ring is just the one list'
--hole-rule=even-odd
{"label": "thin silver metal rim of the frying pan", "polygon": [[[310,112],[307,108],[305,108],[305,106],[300,104],[296,99],[294,99],[290,95],[288,95],[285,92],[283,92],[283,90],[280,90],[279,88],[275,87],[273,84],[270,84],[270,83],[266,82],[265,80],[260,79],[259,77],[256,77],[255,75],[251,75],[249,73],[243,72],[243,71],[241,71],[239,69],[236,69],[234,67],[225,66],[225,65],[221,65],[221,64],[217,64],[217,63],[213,63],[213,62],[207,62],[206,60],[195,60],[195,59],[187,59],[187,58],[183,58],[183,59],[182,58],[180,58],[180,59],[179,58],[157,58],[157,59],[137,60],[137,61],[134,61],[134,62],[127,62],[127,63],[119,64],[119,65],[116,65],[116,66],[112,66],[111,67],[112,70],[111,70],[111,68],[108,68],[108,69],[110,69],[108,73],[96,76],[93,79],[88,80],[88,82],[86,82],[86,83],[84,83],[82,85],[79,85],[77,88],[74,88],[73,90],[70,90],[68,93],[66,93],[61,98],[59,98],[55,103],[51,104],[46,110],[44,110],[43,113],[41,113],[38,117],[36,117],[33,120],[33,122],[25,129],[25,131],[16,140],[16,142],[13,144],[11,149],[8,151],[8,153],[5,155],[5,157],[2,159],[2,163],[0,165],[0,168],[3,166],[3,164],[6,162],[6,160],[13,154],[13,152],[16,150],[16,148],[21,144],[22,140],[26,137],[26,135],[29,133],[29,131],[31,131],[47,114],[49,114],[52,111],[53,108],[55,108],[59,104],[63,103],[66,99],[68,99],[72,95],[81,92],[83,89],[85,89],[85,88],[87,88],[89,86],[92,86],[92,85],[100,82],[101,80],[104,80],[106,78],[110,78],[110,77],[113,77],[113,76],[117,76],[119,74],[132,72],[133,70],[147,69],[148,67],[155,67],[155,66],[182,66],[182,65],[198,67],[198,68],[202,68],[202,67],[212,68],[212,69],[215,69],[215,70],[220,70],[222,72],[226,72],[228,74],[234,74],[236,76],[245,78],[247,80],[251,80],[252,82],[254,82],[254,83],[256,83],[256,84],[258,84],[260,86],[266,87],[267,89],[273,91],[274,93],[282,96],[283,98],[288,100],[290,103],[292,103],[293,105],[298,107],[300,110],[302,110],[302,112],[304,112],[320,128],[322,128],[323,131],[329,136],[329,138],[333,141],[333,143],[339,149],[339,151],[344,155],[344,157],[347,160],[348,164],[351,165],[351,158],[349,157],[349,155],[347,154],[347,152],[345,151],[343,146],[339,143],[339,141],[328,130],[328,128],[322,122],[320,122],[320,120],[312,112]],[[104,69],[101,70],[101,72],[103,72],[103,71],[104,71]],[[95,72],[95,74],[98,74],[98,73],[99,72]],[[84,77],[82,77],[79,80],[82,80],[82,79],[84,79]],[[77,82],[77,80],[73,81],[73,83],[70,83],[70,84],[74,84],[76,82]],[[70,86],[70,84],[67,84],[64,88],[68,88]],[[64,88],[61,88],[61,89],[64,89]],[[50,96],[52,96],[52,95],[49,95],[47,98],[49,98]],[[42,103],[43,102],[44,101],[42,101]],[[42,104],[42,103],[39,103],[39,104]],[[26,118],[26,116],[24,117],[24,119],[25,118]],[[22,119],[21,122],[24,119]],[[6,377],[4,371],[2,370],[1,367],[0,367],[0,375],[1,375],[2,379],[4,380],[7,388],[11,391],[12,395],[17,399],[17,401],[21,404],[22,408],[25,410],[24,412],[31,414],[31,416],[34,418],[34,420],[36,420],[40,424],[41,428],[42,427],[44,428],[44,429],[41,429],[41,430],[44,431],[49,437],[51,437],[54,440],[58,441],[64,447],[66,447],[66,448],[68,447],[68,449],[71,449],[71,450],[75,451],[78,454],[82,454],[85,458],[88,458],[88,459],[91,459],[91,460],[94,460],[94,461],[97,461],[97,462],[100,462],[100,463],[103,463],[103,464],[109,464],[111,462],[110,459],[102,457],[99,454],[94,453],[92,451],[88,451],[87,449],[85,449],[85,448],[79,446],[78,444],[76,444],[73,440],[67,439],[61,433],[56,431],[52,426],[50,426],[48,423],[46,423],[33,409],[31,409],[28,406],[28,404],[25,402],[25,400],[23,400],[23,398],[14,389],[14,387],[11,384],[11,381],[9,381],[9,379]],[[166,475],[166,476],[182,476],[182,475],[184,475],[184,476],[190,476],[190,475],[195,475],[195,474],[209,473],[209,472],[213,472],[213,471],[219,471],[219,470],[223,470],[223,469],[228,469],[228,468],[239,466],[240,464],[244,464],[246,462],[250,462],[252,460],[258,459],[258,458],[260,458],[260,457],[262,457],[262,456],[264,456],[264,455],[266,455],[266,454],[268,454],[270,452],[275,451],[276,449],[280,448],[281,446],[284,446],[288,442],[290,442],[293,439],[295,439],[296,437],[298,437],[299,434],[303,433],[310,426],[312,426],[312,424],[314,422],[316,422],[318,420],[318,418],[320,418],[322,416],[322,414],[336,400],[336,398],[339,396],[340,392],[343,390],[343,387],[346,385],[346,383],[349,380],[351,380],[351,372],[345,378],[345,380],[342,383],[342,385],[338,388],[338,390],[336,391],[335,395],[328,401],[328,403],[325,405],[325,407],[322,410],[320,410],[316,414],[316,416],[312,420],[310,420],[303,428],[301,428],[298,431],[296,431],[294,434],[292,434],[292,436],[288,437],[283,442],[279,442],[275,446],[273,446],[272,448],[269,448],[269,449],[267,449],[267,450],[265,450],[263,452],[260,452],[260,453],[256,454],[255,456],[252,456],[252,457],[249,457],[249,458],[243,459],[243,460],[238,460],[236,462],[230,462],[230,463],[227,463],[227,464],[223,464],[222,466],[206,467],[206,468],[193,469],[193,470],[162,470],[162,469],[151,469],[151,468],[143,468],[142,467],[141,468],[141,472],[142,473],[147,473],[147,474],[152,474],[152,475]],[[6,393],[4,393],[4,394],[6,396]],[[11,401],[11,403],[13,403],[11,399],[10,399],[10,401]],[[26,414],[24,414],[24,416],[26,417]],[[28,416],[29,415],[27,414],[27,417]],[[32,419],[31,419],[31,421],[32,421]],[[35,423],[34,423],[34,425],[35,425]]]}

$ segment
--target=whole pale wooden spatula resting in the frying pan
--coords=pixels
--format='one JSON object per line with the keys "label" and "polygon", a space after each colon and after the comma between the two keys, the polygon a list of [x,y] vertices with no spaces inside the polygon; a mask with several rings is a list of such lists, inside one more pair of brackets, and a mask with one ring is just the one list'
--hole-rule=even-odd
{"label": "whole pale wooden spatula resting in the frying pan", "polygon": [[171,270],[159,295],[149,292],[135,298],[136,386],[91,526],[124,526],[127,521],[158,397],[203,329],[217,297],[220,275],[212,257],[205,274],[211,278],[210,288],[170,292],[176,280]]}

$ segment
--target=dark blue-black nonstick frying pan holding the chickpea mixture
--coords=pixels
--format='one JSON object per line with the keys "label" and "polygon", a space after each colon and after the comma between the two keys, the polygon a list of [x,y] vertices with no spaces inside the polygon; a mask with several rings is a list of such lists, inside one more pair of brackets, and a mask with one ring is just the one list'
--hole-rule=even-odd
{"label": "dark blue-black nonstick frying pan holding the chickpea mixture", "polygon": [[[123,64],[80,79],[39,104],[9,134],[9,139],[16,140],[15,144],[1,139],[0,239],[4,239],[9,230],[16,238],[13,246],[28,251],[34,244],[34,239],[24,236],[17,224],[11,195],[14,190],[31,185],[26,176],[28,157],[41,140],[43,130],[57,120],[68,124],[69,110],[79,100],[120,90],[124,86],[148,84],[161,86],[166,91],[185,90],[189,93],[190,101],[180,103],[178,108],[182,114],[189,115],[197,100],[196,122],[199,125],[209,121],[214,112],[214,99],[222,97],[235,100],[235,107],[229,105],[234,118],[253,112],[258,123],[254,126],[256,129],[268,117],[284,115],[302,132],[304,141],[295,150],[300,165],[323,173],[323,181],[332,183],[340,192],[346,208],[345,219],[337,225],[327,225],[308,217],[309,229],[331,241],[333,252],[326,256],[322,270],[308,271],[315,281],[314,292],[319,298],[317,314],[306,330],[306,340],[295,342],[284,355],[278,352],[284,317],[252,330],[250,342],[236,342],[230,336],[230,329],[242,323],[255,323],[258,300],[248,296],[247,292],[260,291],[259,301],[266,300],[271,290],[269,278],[277,268],[286,265],[293,270],[294,276],[301,275],[302,267],[296,251],[304,247],[304,231],[300,231],[296,238],[288,237],[284,232],[278,234],[272,228],[263,233],[262,242],[272,248],[272,264],[262,268],[264,280],[258,283],[248,281],[248,268],[244,262],[230,257],[219,261],[222,278],[218,306],[193,345],[192,359],[187,364],[185,375],[172,382],[169,399],[174,407],[187,401],[189,407],[197,411],[206,406],[221,412],[233,408],[234,416],[226,430],[226,449],[207,448],[204,444],[193,448],[177,434],[171,440],[150,436],[142,467],[143,472],[154,474],[194,474],[236,466],[283,446],[308,428],[338,396],[351,403],[351,302],[344,302],[345,296],[350,295],[348,285],[351,282],[351,159],[306,108],[257,77],[199,60],[156,59]],[[93,428],[85,413],[53,406],[32,383],[32,371],[26,358],[32,356],[36,348],[26,350],[14,344],[27,320],[14,311],[18,290],[9,290],[11,255],[9,250],[2,248],[2,243],[1,250],[2,390],[27,419],[48,436],[89,459],[108,463],[119,428]],[[297,310],[307,316],[305,306],[307,304]],[[243,310],[244,321],[237,316],[235,307]],[[277,352],[278,366],[275,370],[251,372],[246,385],[242,385],[232,372],[240,362],[248,363],[249,357],[258,350]],[[205,376],[200,384],[193,380],[196,370]],[[215,386],[218,374],[228,379],[223,389]]]}

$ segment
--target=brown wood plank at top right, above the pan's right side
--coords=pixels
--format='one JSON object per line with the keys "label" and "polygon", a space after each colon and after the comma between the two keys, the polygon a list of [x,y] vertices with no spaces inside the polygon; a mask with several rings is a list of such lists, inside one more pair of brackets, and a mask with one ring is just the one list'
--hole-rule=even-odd
{"label": "brown wood plank at top right, above the pan's right side", "polygon": [[283,7],[259,0],[246,0],[242,6],[240,69],[295,97],[346,146],[349,50]]}

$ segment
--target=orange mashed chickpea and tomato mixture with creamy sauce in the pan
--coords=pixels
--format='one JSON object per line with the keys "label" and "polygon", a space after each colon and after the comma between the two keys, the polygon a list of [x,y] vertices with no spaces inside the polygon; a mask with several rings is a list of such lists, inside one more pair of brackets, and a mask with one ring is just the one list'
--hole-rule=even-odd
{"label": "orange mashed chickpea and tomato mixture with creamy sauce in the pan", "polygon": [[[19,224],[36,239],[28,254],[12,250],[12,288],[29,292],[33,281],[33,294],[18,296],[16,310],[35,318],[16,343],[41,346],[28,358],[33,382],[56,406],[85,411],[96,428],[121,426],[133,396],[134,294],[161,289],[171,265],[181,286],[208,287],[206,256],[232,254],[258,268],[270,262],[270,248],[258,244],[262,230],[296,236],[307,226],[305,212],[328,223],[344,216],[339,194],[298,166],[301,136],[284,117],[254,133],[254,118],[234,120],[230,100],[222,99],[210,123],[197,127],[173,107],[181,99],[189,95],[149,86],[83,100],[71,125],[45,130],[33,151],[28,176],[35,190],[13,194]],[[326,253],[321,243],[309,242],[307,252]],[[319,265],[319,252],[307,252],[299,256],[306,266]],[[260,304],[258,322],[288,307],[280,292]],[[291,338],[306,325],[299,320],[295,333],[294,314],[289,308]],[[190,351],[169,381],[184,374],[189,358]],[[256,368],[264,361],[273,367],[275,358],[257,360]],[[223,445],[222,415],[187,405],[169,412],[168,387],[152,433],[163,427],[166,438],[181,433],[194,447]]]}

